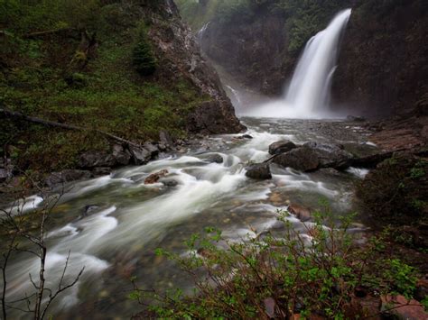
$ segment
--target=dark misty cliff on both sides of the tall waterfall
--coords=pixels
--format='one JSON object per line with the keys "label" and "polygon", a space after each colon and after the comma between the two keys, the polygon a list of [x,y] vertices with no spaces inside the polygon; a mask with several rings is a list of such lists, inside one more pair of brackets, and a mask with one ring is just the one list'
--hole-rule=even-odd
{"label": "dark misty cliff on both sides of the tall waterfall", "polygon": [[[333,78],[333,105],[349,114],[381,116],[428,105],[426,1],[343,0],[330,7],[324,1],[316,10],[303,5],[289,12],[277,7],[293,1],[267,3],[253,10],[250,18],[246,14],[234,14],[227,22],[214,18],[199,34],[209,58],[247,86],[280,95],[303,50],[302,46],[290,50],[293,42],[307,41],[308,34],[324,28],[340,9],[352,7]],[[321,23],[312,25],[313,21]]]}

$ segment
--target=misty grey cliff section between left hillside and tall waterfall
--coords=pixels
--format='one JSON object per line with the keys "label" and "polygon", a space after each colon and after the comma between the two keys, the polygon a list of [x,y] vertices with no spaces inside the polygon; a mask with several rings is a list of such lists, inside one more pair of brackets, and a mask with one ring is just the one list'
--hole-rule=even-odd
{"label": "misty grey cliff section between left hillside and tall waterfall", "polygon": [[237,15],[230,23],[214,21],[200,32],[200,45],[248,87],[279,95],[294,61],[287,54],[284,23],[284,16],[266,10],[255,19]]}

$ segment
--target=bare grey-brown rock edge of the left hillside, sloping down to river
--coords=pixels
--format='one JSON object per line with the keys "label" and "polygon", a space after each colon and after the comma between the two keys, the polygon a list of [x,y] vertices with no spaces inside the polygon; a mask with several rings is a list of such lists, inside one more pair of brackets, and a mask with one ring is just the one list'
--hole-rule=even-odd
{"label": "bare grey-brown rock edge of the left hillside, sloping down to river", "polygon": [[[150,6],[150,5],[149,5]],[[190,28],[181,22],[172,0],[149,14],[153,24],[149,37],[154,41],[161,69],[157,76],[163,81],[187,78],[201,94],[209,96],[187,116],[187,129],[193,133],[238,133],[244,129],[235,115],[228,96],[221,87],[219,76],[200,52]]]}

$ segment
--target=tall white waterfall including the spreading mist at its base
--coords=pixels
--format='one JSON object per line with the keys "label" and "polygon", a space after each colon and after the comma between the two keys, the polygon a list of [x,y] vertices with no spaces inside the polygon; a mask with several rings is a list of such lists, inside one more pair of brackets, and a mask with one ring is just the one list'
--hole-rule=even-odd
{"label": "tall white waterfall including the spreading mist at its base", "polygon": [[329,26],[307,42],[284,98],[253,109],[250,114],[264,117],[330,117],[328,98],[336,69],[340,35],[351,9],[341,11]]}

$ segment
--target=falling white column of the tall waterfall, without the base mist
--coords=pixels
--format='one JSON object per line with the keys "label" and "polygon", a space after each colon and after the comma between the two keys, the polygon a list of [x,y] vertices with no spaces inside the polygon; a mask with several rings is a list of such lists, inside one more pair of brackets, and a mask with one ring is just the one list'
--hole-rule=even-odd
{"label": "falling white column of the tall waterfall, without the base mist", "polygon": [[308,114],[325,106],[336,68],[340,33],[350,13],[350,9],[340,12],[325,30],[308,41],[285,96],[288,105]]}

